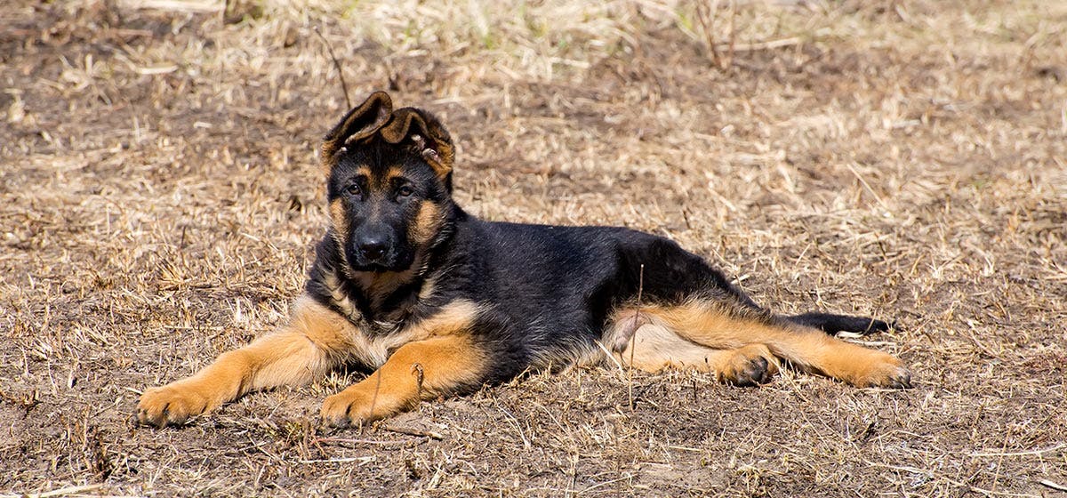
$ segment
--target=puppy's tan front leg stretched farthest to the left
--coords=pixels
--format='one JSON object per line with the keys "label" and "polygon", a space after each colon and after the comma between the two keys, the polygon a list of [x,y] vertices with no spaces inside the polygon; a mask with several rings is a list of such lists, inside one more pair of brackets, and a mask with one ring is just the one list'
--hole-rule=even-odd
{"label": "puppy's tan front leg stretched farthest to the left", "polygon": [[340,315],[301,298],[281,331],[223,353],[188,379],[146,389],[138,419],[158,427],[181,424],[255,389],[307,384],[336,366],[355,333]]}

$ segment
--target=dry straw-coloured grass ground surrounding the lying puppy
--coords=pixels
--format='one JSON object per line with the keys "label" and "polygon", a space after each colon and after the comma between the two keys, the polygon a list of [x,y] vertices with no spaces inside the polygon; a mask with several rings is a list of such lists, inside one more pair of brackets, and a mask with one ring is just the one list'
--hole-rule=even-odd
{"label": "dry straw-coloured grass ground surrounding the lying puppy", "polygon": [[[0,12],[0,495],[1063,495],[1061,2],[230,3]],[[353,99],[445,118],[473,212],[666,234],[780,310],[896,319],[871,340],[919,387],[605,368],[325,431],[338,374],[134,425],[300,290],[345,107],[316,28]]]}

